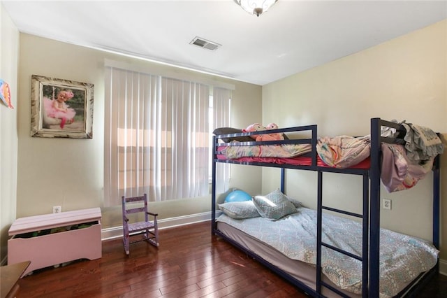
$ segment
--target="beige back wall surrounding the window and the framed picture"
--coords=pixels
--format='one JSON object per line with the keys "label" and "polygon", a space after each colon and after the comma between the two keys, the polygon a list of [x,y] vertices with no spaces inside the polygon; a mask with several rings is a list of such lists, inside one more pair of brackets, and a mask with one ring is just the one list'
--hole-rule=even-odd
{"label": "beige back wall surrounding the window and the framed picture", "polygon": [[[20,69],[18,111],[17,218],[51,213],[52,206],[62,211],[101,207],[103,228],[122,225],[121,207],[103,208],[103,122],[104,59],[138,64],[152,73],[173,73],[192,80],[217,80],[235,85],[233,124],[261,118],[261,86],[218,78],[161,64],[144,62],[98,50],[83,48],[47,38],[20,34]],[[31,75],[76,80],[94,84],[93,139],[47,139],[30,136]],[[249,108],[257,106],[256,109]],[[250,111],[251,119],[247,117]],[[257,176],[251,190],[261,189],[261,170],[243,169],[233,181],[243,176]],[[233,183],[237,186],[237,183]],[[210,198],[179,199],[151,203],[160,219],[210,211]]]}

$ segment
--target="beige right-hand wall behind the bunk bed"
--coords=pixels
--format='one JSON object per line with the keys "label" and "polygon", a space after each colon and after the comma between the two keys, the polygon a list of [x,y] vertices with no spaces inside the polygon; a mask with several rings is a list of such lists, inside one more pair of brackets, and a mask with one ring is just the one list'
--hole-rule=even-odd
{"label": "beige right-hand wall behind the bunk bed", "polygon": [[[447,20],[354,55],[263,86],[263,122],[279,127],[318,124],[319,136],[369,134],[369,119],[407,120],[447,133]],[[281,115],[280,118],[277,115]],[[442,171],[447,169],[444,154]],[[263,170],[263,192],[277,180]],[[288,171],[288,194],[316,206],[316,173]],[[431,178],[431,175],[430,175]],[[431,179],[388,194],[384,227],[431,239]],[[325,174],[325,204],[360,212],[361,180]],[[442,246],[447,259],[447,176],[441,182]],[[293,185],[292,185],[293,184]],[[312,185],[312,187],[309,187]],[[331,194],[331,195],[329,195]],[[333,197],[332,197],[333,195]],[[329,199],[332,197],[332,200]]]}

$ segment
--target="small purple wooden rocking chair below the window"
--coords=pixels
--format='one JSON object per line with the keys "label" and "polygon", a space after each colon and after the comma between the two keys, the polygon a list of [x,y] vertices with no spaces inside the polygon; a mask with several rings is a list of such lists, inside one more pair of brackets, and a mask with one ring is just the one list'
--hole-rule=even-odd
{"label": "small purple wooden rocking chair below the window", "polygon": [[[142,206],[144,204],[144,206]],[[159,246],[159,228],[156,222],[158,214],[147,211],[147,196],[141,197],[122,197],[123,209],[123,243],[126,255],[129,255],[129,246],[131,243],[147,241],[155,247]],[[131,213],[144,213],[144,221],[138,218],[138,214],[128,216]],[[154,220],[149,220],[151,215]],[[141,215],[140,215],[141,216]],[[142,216],[141,216],[142,217]],[[129,220],[131,218],[131,220]],[[138,219],[137,219],[138,218]],[[135,219],[134,222],[131,222]],[[136,239],[136,236],[139,236]]]}

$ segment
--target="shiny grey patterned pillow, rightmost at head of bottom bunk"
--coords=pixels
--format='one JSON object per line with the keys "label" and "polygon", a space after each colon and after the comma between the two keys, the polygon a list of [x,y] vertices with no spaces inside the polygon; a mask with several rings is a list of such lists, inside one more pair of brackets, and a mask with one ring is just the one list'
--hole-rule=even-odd
{"label": "shiny grey patterned pillow, rightmost at head of bottom bunk", "polygon": [[253,202],[258,213],[269,220],[279,220],[279,218],[297,212],[296,207],[280,190],[274,190],[265,196],[255,196]]}

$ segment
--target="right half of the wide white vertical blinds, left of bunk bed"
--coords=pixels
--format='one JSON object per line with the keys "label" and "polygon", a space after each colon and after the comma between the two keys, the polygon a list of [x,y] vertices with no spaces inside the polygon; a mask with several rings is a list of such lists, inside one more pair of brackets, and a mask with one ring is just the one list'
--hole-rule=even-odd
{"label": "right half of the wide white vertical blinds, left of bunk bed", "polygon": [[[161,78],[161,140],[166,161],[161,165],[161,193],[156,197],[179,199],[208,194],[208,105],[207,85]],[[163,181],[166,185],[163,185]]]}

